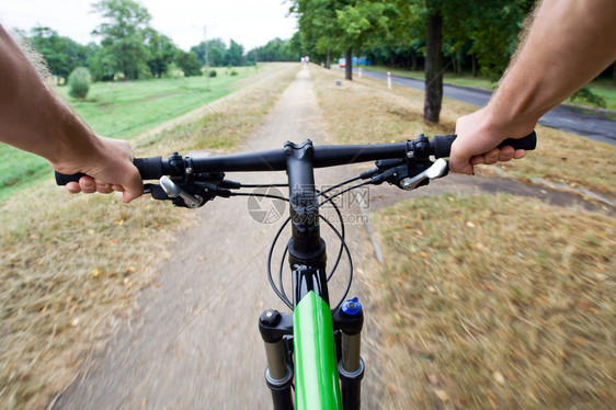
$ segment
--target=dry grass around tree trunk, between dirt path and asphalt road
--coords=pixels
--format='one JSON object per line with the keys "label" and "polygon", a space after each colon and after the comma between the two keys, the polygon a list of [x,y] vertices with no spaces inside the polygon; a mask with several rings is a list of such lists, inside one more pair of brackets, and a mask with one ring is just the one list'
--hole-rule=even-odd
{"label": "dry grass around tree trunk, between dirt path and asphalt road", "polygon": [[[453,134],[456,119],[477,109],[444,99],[441,123],[435,125],[423,121],[422,91],[400,86],[389,91],[384,81],[366,77],[336,86],[342,71],[312,67],[311,72],[329,130],[341,143],[391,143],[420,133]],[[520,180],[540,176],[616,196],[615,146],[543,126],[537,127],[537,149],[525,160],[498,167]],[[476,167],[476,171],[490,172],[486,167]]]}

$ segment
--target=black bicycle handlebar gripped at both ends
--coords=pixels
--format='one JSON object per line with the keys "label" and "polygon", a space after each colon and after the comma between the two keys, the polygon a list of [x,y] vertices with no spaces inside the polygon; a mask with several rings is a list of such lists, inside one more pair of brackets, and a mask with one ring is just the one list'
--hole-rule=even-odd
{"label": "black bicycle handlebar gripped at both ends", "polygon": [[[449,157],[455,135],[435,135],[430,141],[430,148],[422,152],[436,158]],[[533,150],[537,145],[535,132],[524,138],[506,139],[499,148],[511,146],[514,149]],[[395,144],[378,145],[341,145],[313,147],[312,163],[315,168],[334,167],[355,162],[366,162],[379,159],[406,158],[408,152],[414,152],[412,140]],[[171,157],[170,157],[171,158]],[[178,155],[178,160],[182,158]],[[181,176],[183,167],[175,167],[172,161],[162,157],[135,158],[135,167],[144,180],[156,180],[163,175]],[[191,158],[193,172],[233,172],[233,171],[284,171],[286,170],[285,148],[269,151],[237,153],[219,157]],[[68,182],[78,182],[83,173],[72,175],[56,172],[56,183],[66,185]]]}

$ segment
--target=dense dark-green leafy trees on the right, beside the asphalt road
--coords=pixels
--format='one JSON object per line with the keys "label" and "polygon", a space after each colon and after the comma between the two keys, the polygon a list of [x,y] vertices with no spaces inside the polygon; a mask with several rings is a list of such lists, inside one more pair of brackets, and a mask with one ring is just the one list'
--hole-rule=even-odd
{"label": "dense dark-green leafy trees on the right, beside the asphalt road", "polygon": [[[301,47],[313,60],[365,54],[426,70],[424,117],[438,122],[445,68],[503,72],[534,0],[290,0]],[[449,61],[444,65],[443,60]]]}

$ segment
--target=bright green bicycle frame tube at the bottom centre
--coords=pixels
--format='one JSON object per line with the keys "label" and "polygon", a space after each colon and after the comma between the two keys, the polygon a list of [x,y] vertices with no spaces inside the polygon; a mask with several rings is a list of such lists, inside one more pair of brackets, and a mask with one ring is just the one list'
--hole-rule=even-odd
{"label": "bright green bicycle frame tube at the bottom centre", "polygon": [[330,307],[311,291],[293,321],[296,409],[342,409]]}

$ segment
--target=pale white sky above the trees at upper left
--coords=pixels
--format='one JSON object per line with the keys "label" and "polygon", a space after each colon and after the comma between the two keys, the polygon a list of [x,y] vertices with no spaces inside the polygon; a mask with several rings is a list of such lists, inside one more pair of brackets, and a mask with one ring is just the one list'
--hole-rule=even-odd
{"label": "pale white sky above the trees at upper left", "polygon": [[[102,19],[92,13],[94,0],[1,0],[0,23],[5,29],[30,30],[38,24],[78,43],[100,42],[91,36]],[[150,25],[189,50],[204,38],[232,38],[244,50],[269,41],[290,38],[297,20],[287,16],[284,0],[141,0],[150,12]]]}

